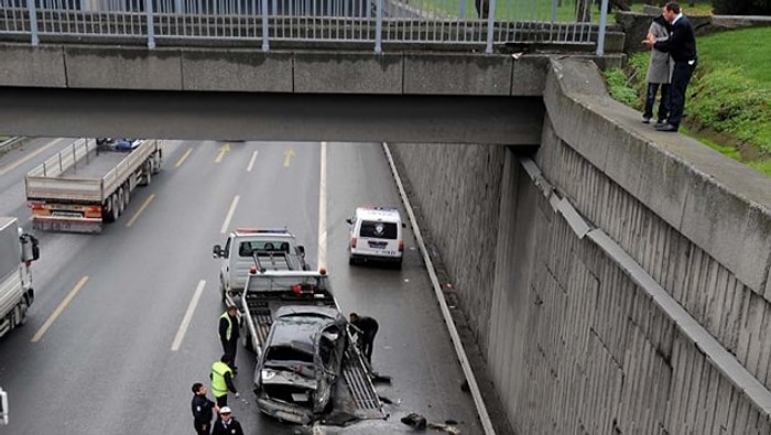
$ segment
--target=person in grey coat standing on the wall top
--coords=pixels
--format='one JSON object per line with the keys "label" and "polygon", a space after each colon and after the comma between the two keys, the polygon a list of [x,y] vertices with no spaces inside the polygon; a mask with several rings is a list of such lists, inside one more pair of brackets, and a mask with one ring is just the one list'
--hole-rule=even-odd
{"label": "person in grey coat standing on the wall top", "polygon": [[[670,37],[670,24],[663,14],[653,19],[648,34],[652,34],[656,41],[666,41]],[[664,124],[670,115],[670,77],[672,75],[672,61],[670,54],[651,48],[651,62],[648,65],[645,81],[648,83],[648,91],[645,93],[645,109],[642,112],[642,122],[651,122],[653,118],[653,105],[655,104],[655,95],[661,88],[661,100],[659,101],[659,122]]]}

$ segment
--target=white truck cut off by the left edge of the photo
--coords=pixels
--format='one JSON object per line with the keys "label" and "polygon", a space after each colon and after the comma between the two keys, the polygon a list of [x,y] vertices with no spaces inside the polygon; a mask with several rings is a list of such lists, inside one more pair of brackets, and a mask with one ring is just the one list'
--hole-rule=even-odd
{"label": "white truck cut off by the left edge of the photo", "polygon": [[35,297],[32,262],[40,258],[37,239],[24,233],[15,217],[0,217],[0,337],[26,320]]}

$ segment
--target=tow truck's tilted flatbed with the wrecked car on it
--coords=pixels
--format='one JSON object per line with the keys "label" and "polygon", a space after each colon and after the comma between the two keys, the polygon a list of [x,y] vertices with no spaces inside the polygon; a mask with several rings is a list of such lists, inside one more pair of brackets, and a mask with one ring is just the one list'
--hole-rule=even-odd
{"label": "tow truck's tilted flatbed with the wrecked car on it", "polygon": [[239,307],[243,345],[257,354],[258,409],[295,424],[386,420],[326,271],[270,270],[254,260],[241,297],[227,302]]}

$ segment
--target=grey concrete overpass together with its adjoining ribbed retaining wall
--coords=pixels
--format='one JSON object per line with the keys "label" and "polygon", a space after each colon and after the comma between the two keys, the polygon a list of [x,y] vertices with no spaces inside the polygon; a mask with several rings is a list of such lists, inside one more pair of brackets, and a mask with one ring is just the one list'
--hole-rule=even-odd
{"label": "grey concrete overpass together with its adjoining ribbed retaining wall", "polygon": [[389,142],[490,432],[771,433],[771,183],[610,99],[620,54],[2,35],[4,132]]}

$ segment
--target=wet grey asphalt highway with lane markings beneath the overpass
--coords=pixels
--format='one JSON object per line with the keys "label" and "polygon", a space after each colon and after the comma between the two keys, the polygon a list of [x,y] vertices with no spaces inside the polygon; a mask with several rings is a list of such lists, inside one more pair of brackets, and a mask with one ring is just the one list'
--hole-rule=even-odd
{"label": "wet grey asphalt highway with lane markings beneath the overpass", "polygon": [[[64,145],[37,139],[0,156],[0,215],[30,229],[23,176]],[[345,219],[362,204],[394,205],[406,216],[380,144],[166,141],[163,171],[101,235],[35,231],[35,303],[28,324],[0,339],[0,387],[10,400],[0,433],[193,433],[191,384],[207,382],[221,354],[211,246],[228,228],[284,225],[310,262],[327,268],[343,309],[379,320],[373,366],[392,377],[378,384],[393,401],[388,421],[325,432],[410,433],[399,418],[417,412],[481,433],[410,229],[401,271],[348,265]],[[241,399],[231,395],[230,405],[246,432],[297,433],[257,411],[254,355],[240,348],[238,366]]]}

